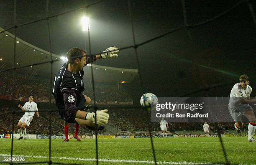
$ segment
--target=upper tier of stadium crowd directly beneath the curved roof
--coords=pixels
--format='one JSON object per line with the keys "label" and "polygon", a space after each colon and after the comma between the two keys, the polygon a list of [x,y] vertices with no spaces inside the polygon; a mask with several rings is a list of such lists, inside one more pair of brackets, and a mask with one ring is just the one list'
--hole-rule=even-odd
{"label": "upper tier of stadium crowd directly beneath the curved roof", "polygon": [[[29,94],[34,95],[35,102],[49,102],[50,81],[42,78],[28,79],[28,75],[15,74],[15,100],[28,101]],[[84,94],[93,102],[92,87],[85,86]],[[133,100],[123,89],[113,86],[95,86],[97,104],[133,104]],[[13,73],[0,73],[0,99],[13,100]],[[54,102],[54,99],[52,99]]]}

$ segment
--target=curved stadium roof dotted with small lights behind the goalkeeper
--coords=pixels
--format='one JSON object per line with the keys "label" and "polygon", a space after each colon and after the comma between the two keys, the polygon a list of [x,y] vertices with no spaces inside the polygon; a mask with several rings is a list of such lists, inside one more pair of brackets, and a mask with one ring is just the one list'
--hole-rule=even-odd
{"label": "curved stadium roof dotted with small lights behind the goalkeeper", "polygon": [[[3,31],[0,28],[0,31]],[[53,75],[57,73],[64,61],[60,60],[61,56],[52,53],[53,60],[56,60],[53,65]],[[5,31],[0,33],[0,71],[12,68],[14,66],[14,35]],[[16,37],[16,71],[18,73],[27,74],[28,77],[41,76],[50,78],[51,73],[50,52],[31,45],[26,41]],[[38,65],[33,65],[40,63]],[[31,68],[31,66],[33,67]],[[84,79],[91,80],[91,67],[93,68],[94,79],[96,82],[131,82],[138,74],[138,69],[123,69],[108,66],[100,66],[92,64],[84,67]],[[12,70],[11,70],[12,71]]]}

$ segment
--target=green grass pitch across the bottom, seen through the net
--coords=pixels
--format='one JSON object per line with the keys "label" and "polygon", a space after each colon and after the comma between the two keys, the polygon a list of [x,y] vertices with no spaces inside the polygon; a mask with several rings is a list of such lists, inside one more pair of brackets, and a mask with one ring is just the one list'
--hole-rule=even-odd
{"label": "green grass pitch across the bottom, seen through the net", "polygon": [[[256,143],[247,137],[223,137],[228,161],[232,164],[256,164]],[[95,139],[51,140],[53,162],[95,164]],[[153,138],[159,164],[225,163],[218,137]],[[0,139],[0,157],[10,155],[11,140]],[[98,139],[99,164],[154,164],[149,138]],[[14,139],[13,155],[26,156],[27,162],[48,161],[49,140]],[[2,161],[1,160],[1,161]],[[1,163],[0,163],[1,164]],[[47,164],[47,163],[45,163]]]}

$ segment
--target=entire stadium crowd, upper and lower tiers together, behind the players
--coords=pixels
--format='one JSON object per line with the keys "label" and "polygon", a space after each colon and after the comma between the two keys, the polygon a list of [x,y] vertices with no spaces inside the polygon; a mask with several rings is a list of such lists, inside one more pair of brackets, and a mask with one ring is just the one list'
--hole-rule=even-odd
{"label": "entire stadium crowd, upper and lower tiers together, behind the players", "polygon": [[[28,101],[29,94],[34,95],[34,101],[38,104],[38,111],[40,118],[34,117],[31,122],[31,126],[28,127],[29,134],[49,134],[49,121],[51,116],[51,133],[52,135],[63,135],[63,125],[64,121],[60,119],[59,112],[56,106],[49,104],[49,80],[34,78],[29,80],[27,76],[16,74],[15,76],[15,114],[12,115],[13,107],[13,73],[4,72],[0,74],[0,134],[12,132],[12,123],[14,122],[14,132],[17,133],[18,130],[16,125],[22,117],[23,112],[17,107],[18,104],[24,104]],[[18,83],[17,83],[18,82]],[[84,94],[93,99],[92,87],[86,86],[86,91]],[[123,103],[127,105],[133,104],[131,97],[122,89],[116,89],[113,86],[96,86],[95,87],[96,103],[102,105],[118,104]],[[52,100],[54,101],[53,97]],[[227,98],[212,98],[210,100],[212,104],[215,105],[215,110],[226,109],[228,104]],[[47,103],[48,102],[48,103]],[[92,101],[93,102],[93,101]],[[91,102],[91,103],[92,103]],[[17,105],[17,106],[15,106]],[[51,107],[52,112],[50,114],[49,107]],[[99,132],[100,134],[121,134],[121,132],[131,132],[136,135],[136,132],[146,132],[148,129],[147,124],[147,112],[139,108],[127,108],[127,109],[117,109],[108,108],[110,119],[106,126],[106,129]],[[206,107],[207,109],[207,107]],[[48,112],[46,112],[48,111]],[[91,109],[92,111],[92,109]],[[224,115],[224,114],[223,114]],[[13,120],[14,118],[14,120]],[[223,116],[224,118],[224,116]],[[224,120],[223,120],[224,121]],[[160,121],[159,121],[160,122]],[[169,131],[172,133],[179,131],[200,131],[202,130],[202,123],[189,122],[189,123],[169,123]],[[159,128],[159,123],[151,123],[152,131],[161,131]],[[212,133],[217,133],[219,129],[222,131],[233,130],[232,123],[210,123],[210,130]],[[243,128],[246,129],[246,128]],[[74,133],[74,126],[69,127],[69,133]],[[80,135],[90,134],[93,135],[94,132],[86,129],[84,127],[80,128]]]}

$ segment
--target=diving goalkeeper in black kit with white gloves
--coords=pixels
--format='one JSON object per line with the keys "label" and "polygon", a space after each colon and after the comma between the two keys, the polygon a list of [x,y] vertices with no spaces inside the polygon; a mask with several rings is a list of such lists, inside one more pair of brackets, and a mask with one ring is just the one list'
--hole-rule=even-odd
{"label": "diving goalkeeper in black kit with white gloves", "polygon": [[[81,48],[71,48],[69,50],[67,53],[68,62],[65,62],[56,74],[52,91],[61,119],[68,123],[77,123],[89,128],[95,127],[95,112],[90,113],[79,108],[79,104],[83,103],[85,105],[89,101],[82,94],[82,91],[84,91],[83,67],[100,58],[118,57],[118,52],[117,47],[110,47],[101,54],[86,56],[86,51]],[[109,114],[107,112],[108,109],[96,112],[98,127],[108,123]]]}

